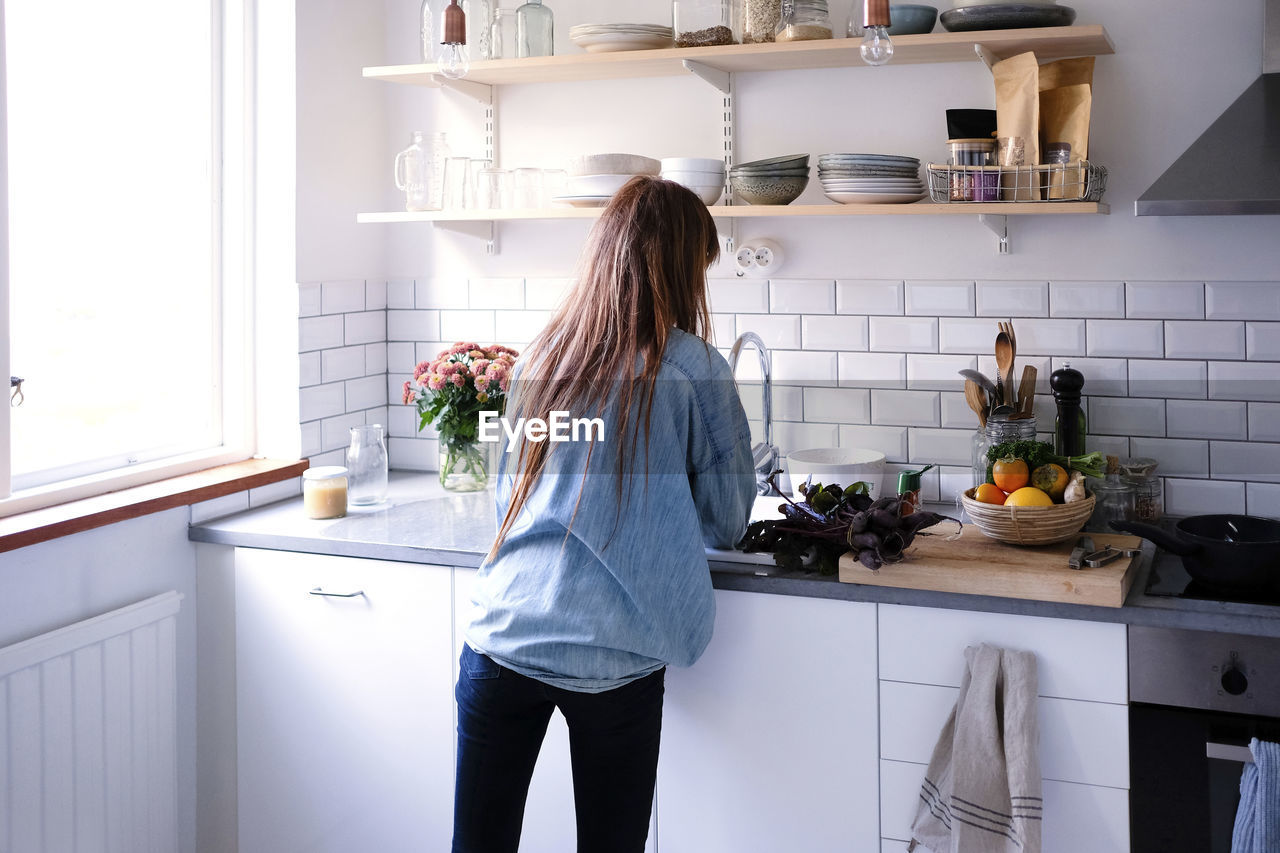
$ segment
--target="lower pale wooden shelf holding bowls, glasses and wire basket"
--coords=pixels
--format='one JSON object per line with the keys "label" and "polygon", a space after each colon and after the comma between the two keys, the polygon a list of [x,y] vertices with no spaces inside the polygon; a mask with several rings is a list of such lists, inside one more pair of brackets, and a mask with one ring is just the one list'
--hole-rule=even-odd
{"label": "lower pale wooden shelf holding bowls, glasses and wire basket", "polygon": [[[598,219],[603,207],[549,207],[545,210],[415,210],[366,213],[361,223],[396,222],[527,222],[538,219]],[[708,207],[717,219],[758,219],[760,216],[974,216],[978,214],[1064,215],[1107,214],[1111,207],[1098,201],[997,201],[909,205],[717,205]]]}

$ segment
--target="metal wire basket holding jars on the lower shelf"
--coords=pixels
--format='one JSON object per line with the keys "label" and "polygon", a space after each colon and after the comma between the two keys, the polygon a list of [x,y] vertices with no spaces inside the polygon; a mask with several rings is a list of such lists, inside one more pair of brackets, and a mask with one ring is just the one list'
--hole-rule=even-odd
{"label": "metal wire basket holding jars on the lower shelf", "polygon": [[1107,170],[1088,160],[1033,167],[972,167],[931,163],[929,199],[966,201],[1102,201]]}

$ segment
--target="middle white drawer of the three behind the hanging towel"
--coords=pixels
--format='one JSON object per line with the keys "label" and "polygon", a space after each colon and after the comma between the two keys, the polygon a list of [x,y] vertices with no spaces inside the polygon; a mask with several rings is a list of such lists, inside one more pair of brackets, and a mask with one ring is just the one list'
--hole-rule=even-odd
{"label": "middle white drawer of the three behind the hanging towel", "polygon": [[[881,758],[928,763],[959,688],[881,681]],[[1123,704],[1039,699],[1041,776],[1129,788],[1129,713]]]}

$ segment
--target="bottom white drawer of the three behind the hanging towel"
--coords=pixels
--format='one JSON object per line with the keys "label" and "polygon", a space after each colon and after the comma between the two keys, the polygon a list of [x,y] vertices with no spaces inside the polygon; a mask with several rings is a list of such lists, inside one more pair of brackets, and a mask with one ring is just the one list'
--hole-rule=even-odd
{"label": "bottom white drawer of the three behind the hanging towel", "polygon": [[[881,849],[911,838],[924,765],[881,761]],[[1044,780],[1043,853],[1128,853],[1129,792]]]}

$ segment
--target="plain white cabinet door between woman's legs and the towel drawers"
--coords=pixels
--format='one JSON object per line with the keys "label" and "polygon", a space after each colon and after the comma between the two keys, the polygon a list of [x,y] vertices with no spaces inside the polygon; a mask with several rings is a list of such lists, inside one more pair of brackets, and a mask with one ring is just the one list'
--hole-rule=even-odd
{"label": "plain white cabinet door between woman's legs and the towel drawers", "polygon": [[667,671],[658,849],[876,849],[876,606],[727,590],[716,606],[705,654]]}

